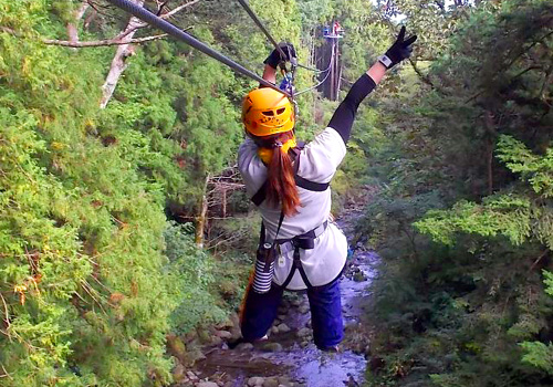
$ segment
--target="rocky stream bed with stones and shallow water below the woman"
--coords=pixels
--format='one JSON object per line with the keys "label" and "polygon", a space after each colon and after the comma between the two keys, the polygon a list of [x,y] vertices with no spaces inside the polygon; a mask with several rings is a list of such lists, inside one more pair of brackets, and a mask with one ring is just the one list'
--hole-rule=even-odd
{"label": "rocky stream bed with stones and shallow water below the woman", "polygon": [[[352,234],[349,222],[341,227]],[[227,343],[240,335],[237,314],[195,335],[169,337],[169,349],[179,360],[174,387],[361,386],[371,356],[367,286],[377,261],[362,245],[348,258],[341,279],[346,335],[338,353],[314,346],[306,294],[286,292],[265,342],[229,349]]]}

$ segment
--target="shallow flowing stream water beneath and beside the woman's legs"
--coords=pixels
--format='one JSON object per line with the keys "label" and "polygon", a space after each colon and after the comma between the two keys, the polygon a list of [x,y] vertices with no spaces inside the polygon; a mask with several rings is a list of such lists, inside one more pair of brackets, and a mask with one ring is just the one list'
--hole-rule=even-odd
{"label": "shallow flowing stream water beneath and beside the woman's legs", "polygon": [[[349,222],[341,227],[351,234]],[[323,353],[312,343],[310,313],[305,294],[285,293],[279,308],[276,328],[269,341],[236,349],[211,349],[196,365],[204,380],[216,380],[219,386],[361,386],[366,369],[369,342],[364,318],[368,312],[367,286],[375,276],[378,257],[371,251],[357,250],[348,259],[341,279],[342,307],[346,338],[338,353]],[[282,324],[286,325],[282,328]],[[281,328],[281,330],[279,330]],[[288,331],[290,330],[290,331]],[[280,331],[274,333],[275,331]],[[284,332],[282,332],[284,331]],[[252,377],[259,377],[257,380]],[[269,380],[272,379],[272,380]]]}

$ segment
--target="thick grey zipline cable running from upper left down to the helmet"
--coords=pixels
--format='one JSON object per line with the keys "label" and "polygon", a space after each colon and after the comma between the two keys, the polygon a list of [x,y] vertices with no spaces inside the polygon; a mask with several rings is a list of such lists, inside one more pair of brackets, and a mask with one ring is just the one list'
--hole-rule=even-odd
{"label": "thick grey zipline cable running from upper left down to the helmet", "polygon": [[182,42],[191,45],[196,50],[201,51],[206,55],[209,55],[212,59],[215,59],[215,60],[217,60],[217,61],[219,61],[221,63],[225,63],[230,69],[232,69],[234,72],[237,72],[239,74],[242,74],[242,75],[246,75],[246,76],[249,76],[252,80],[258,81],[260,84],[262,84],[262,85],[264,85],[267,87],[271,87],[271,88],[273,88],[273,90],[275,90],[275,91],[284,94],[285,96],[290,97],[289,93],[280,90],[279,87],[276,87],[276,85],[272,84],[271,82],[268,82],[268,81],[263,80],[258,74],[249,71],[248,69],[243,67],[241,64],[239,64],[239,63],[237,63],[237,62],[228,59],[223,54],[215,51],[213,49],[211,49],[210,46],[204,44],[202,42],[200,42],[196,38],[189,35],[188,33],[186,33],[186,32],[184,32],[181,30],[179,30],[177,27],[175,27],[171,23],[165,21],[164,19],[155,15],[154,13],[152,13],[150,11],[148,11],[147,9],[145,9],[143,7],[138,7],[137,4],[132,3],[128,0],[107,0],[107,1],[109,3],[112,3],[112,4],[114,4],[115,7],[121,8],[122,10],[124,10],[124,11],[126,11],[126,12],[135,15],[136,18],[145,21],[146,23],[148,23],[148,24],[150,24],[153,27],[156,27],[156,28],[158,28],[159,30],[161,30],[164,32],[167,32],[169,35],[171,35],[174,38],[177,38],[178,40],[181,40]]}

